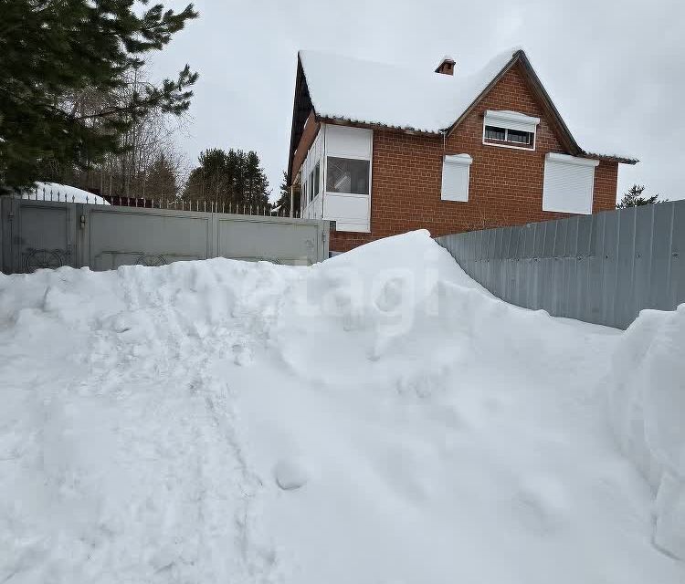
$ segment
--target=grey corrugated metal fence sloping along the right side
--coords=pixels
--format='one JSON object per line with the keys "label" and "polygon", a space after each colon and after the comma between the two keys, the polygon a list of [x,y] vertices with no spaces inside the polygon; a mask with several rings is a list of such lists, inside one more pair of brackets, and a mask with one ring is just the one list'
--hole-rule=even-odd
{"label": "grey corrugated metal fence sloping along the right side", "polygon": [[495,296],[627,328],[685,302],[685,201],[438,237]]}

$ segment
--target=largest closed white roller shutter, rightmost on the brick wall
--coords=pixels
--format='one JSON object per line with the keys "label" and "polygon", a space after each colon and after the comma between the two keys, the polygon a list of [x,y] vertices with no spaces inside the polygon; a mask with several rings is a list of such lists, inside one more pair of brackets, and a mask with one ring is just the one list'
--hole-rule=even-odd
{"label": "largest closed white roller shutter, rightmost on the brick wall", "polygon": [[544,161],[543,211],[592,214],[599,161],[548,153]]}

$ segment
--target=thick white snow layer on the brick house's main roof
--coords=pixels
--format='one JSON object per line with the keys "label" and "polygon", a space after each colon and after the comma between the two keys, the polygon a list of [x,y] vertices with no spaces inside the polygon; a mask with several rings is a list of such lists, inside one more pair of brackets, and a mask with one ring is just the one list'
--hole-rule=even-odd
{"label": "thick white snow layer on the brick house's main roof", "polygon": [[437,133],[458,119],[515,52],[463,77],[311,50],[300,51],[300,62],[321,118]]}

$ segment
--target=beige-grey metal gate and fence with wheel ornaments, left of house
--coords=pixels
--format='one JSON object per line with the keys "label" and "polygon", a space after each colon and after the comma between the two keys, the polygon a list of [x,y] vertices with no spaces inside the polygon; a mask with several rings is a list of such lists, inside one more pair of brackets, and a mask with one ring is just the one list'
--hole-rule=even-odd
{"label": "beige-grey metal gate and fence with wheel ornaments, left of house", "polygon": [[0,257],[5,274],[218,256],[310,265],[328,257],[330,226],[289,217],[2,197]]}

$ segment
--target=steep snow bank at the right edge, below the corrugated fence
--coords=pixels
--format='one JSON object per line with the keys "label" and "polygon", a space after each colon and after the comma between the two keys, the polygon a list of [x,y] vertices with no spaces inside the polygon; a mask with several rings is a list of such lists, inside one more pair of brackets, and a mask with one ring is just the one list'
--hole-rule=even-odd
{"label": "steep snow bank at the right edge, below the corrugated fence", "polygon": [[654,542],[685,559],[685,305],[644,310],[621,339],[609,412],[625,452],[657,493]]}

